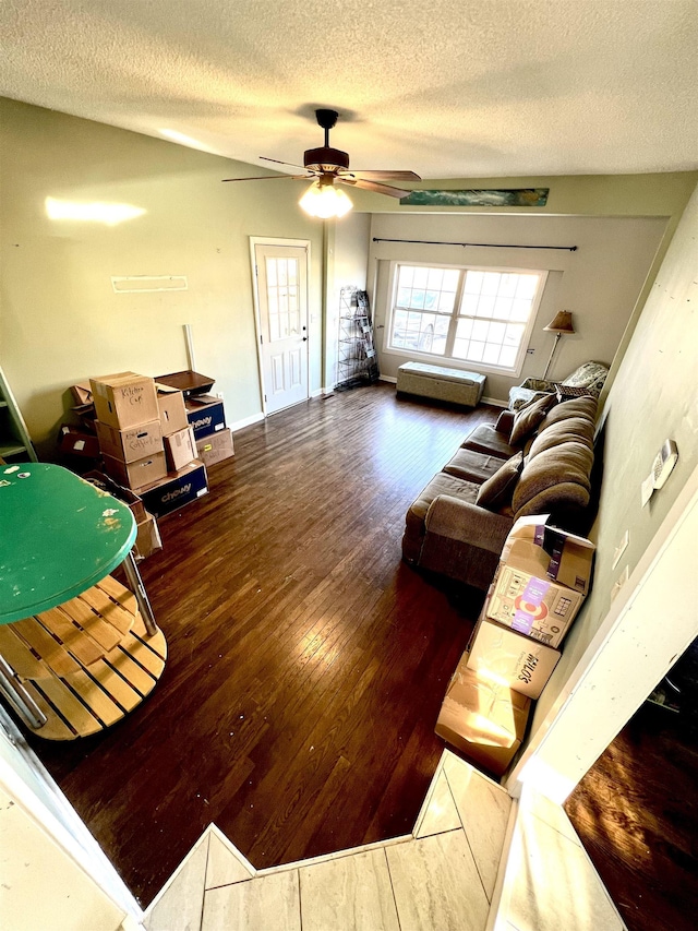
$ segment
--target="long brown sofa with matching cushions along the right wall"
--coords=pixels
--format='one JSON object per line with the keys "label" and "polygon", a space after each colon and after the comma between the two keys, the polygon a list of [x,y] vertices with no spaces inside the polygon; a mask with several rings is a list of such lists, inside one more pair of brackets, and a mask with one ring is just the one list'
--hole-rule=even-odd
{"label": "long brown sofa with matching cushions along the right wall", "polygon": [[595,397],[554,395],[481,425],[412,502],[402,557],[486,590],[514,522],[551,514],[564,529],[591,524]]}

